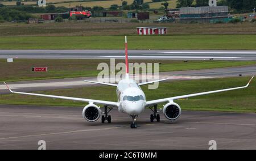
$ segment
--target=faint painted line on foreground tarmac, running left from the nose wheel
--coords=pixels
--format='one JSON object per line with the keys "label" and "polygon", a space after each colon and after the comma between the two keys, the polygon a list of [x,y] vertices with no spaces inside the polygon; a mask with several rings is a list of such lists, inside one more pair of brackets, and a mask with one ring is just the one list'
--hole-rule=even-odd
{"label": "faint painted line on foreground tarmac, running left from the nose wheel", "polygon": [[0,139],[15,139],[15,138],[26,138],[26,137],[40,137],[40,136],[45,136],[45,135],[70,134],[70,133],[79,133],[79,132],[93,132],[93,131],[109,130],[109,129],[117,129],[117,128],[118,128],[118,127],[114,127],[114,128],[103,128],[103,129],[76,130],[76,131],[70,131],[70,132],[46,133],[46,134],[37,134],[37,135],[24,135],[24,136],[19,136],[19,137],[7,137],[7,138],[0,138]]}

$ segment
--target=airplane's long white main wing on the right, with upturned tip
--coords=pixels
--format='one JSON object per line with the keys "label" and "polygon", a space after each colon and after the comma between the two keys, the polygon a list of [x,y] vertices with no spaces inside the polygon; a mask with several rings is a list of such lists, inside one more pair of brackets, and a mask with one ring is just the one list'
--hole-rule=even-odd
{"label": "airplane's long white main wing on the right, with upturned tip", "polygon": [[146,106],[148,105],[153,105],[153,104],[158,104],[158,103],[163,103],[166,101],[172,101],[172,100],[177,100],[177,99],[184,99],[184,98],[190,98],[193,96],[200,96],[200,95],[208,95],[208,94],[214,94],[217,92],[224,92],[224,91],[232,91],[232,90],[238,90],[238,89],[242,89],[242,88],[247,88],[251,82],[251,80],[253,80],[254,76],[250,79],[250,81],[247,83],[246,86],[242,86],[242,87],[236,87],[236,88],[227,88],[224,90],[216,90],[216,91],[209,91],[209,92],[201,92],[201,93],[197,93],[197,94],[190,94],[190,95],[183,95],[183,96],[175,96],[172,98],[165,98],[165,99],[158,99],[158,100],[151,100],[151,101],[146,101]]}

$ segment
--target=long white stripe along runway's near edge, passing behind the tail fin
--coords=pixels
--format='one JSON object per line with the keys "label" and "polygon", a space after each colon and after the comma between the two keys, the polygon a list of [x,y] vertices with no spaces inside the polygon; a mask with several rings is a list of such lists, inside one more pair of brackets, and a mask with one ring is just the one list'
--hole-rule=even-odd
{"label": "long white stripe along runway's near edge, passing behind the tail fin", "polygon": [[[125,56],[100,56],[97,58],[125,58]],[[129,56],[129,58],[195,58],[195,59],[235,59],[235,58],[243,58],[243,57],[215,57],[215,56]]]}

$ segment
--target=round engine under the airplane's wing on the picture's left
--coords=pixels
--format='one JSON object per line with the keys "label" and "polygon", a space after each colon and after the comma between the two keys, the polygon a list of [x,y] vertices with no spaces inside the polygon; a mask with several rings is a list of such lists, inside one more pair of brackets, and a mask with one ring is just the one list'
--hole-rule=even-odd
{"label": "round engine under the airplane's wing on the picture's left", "polygon": [[95,104],[88,104],[84,107],[82,110],[82,117],[84,117],[85,120],[94,122],[97,121],[98,118],[101,116],[101,110],[100,107],[97,107]]}

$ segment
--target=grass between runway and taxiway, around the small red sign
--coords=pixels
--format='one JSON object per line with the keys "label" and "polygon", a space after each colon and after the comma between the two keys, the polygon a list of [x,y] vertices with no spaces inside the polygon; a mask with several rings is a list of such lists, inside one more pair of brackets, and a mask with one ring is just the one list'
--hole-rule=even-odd
{"label": "grass between runway and taxiway, around the small red sign", "polygon": [[[97,66],[101,62],[110,63],[109,60],[42,60],[42,59],[14,59],[13,63],[7,63],[5,59],[0,59],[0,81],[28,81],[39,79],[75,78],[97,76],[100,70]],[[115,60],[115,64],[124,60]],[[256,61],[188,61],[181,60],[130,60],[144,63],[161,63],[159,71],[179,71],[212,69],[218,67],[256,65]],[[47,66],[47,73],[34,73],[32,66]],[[153,70],[154,71],[154,70]]]}

